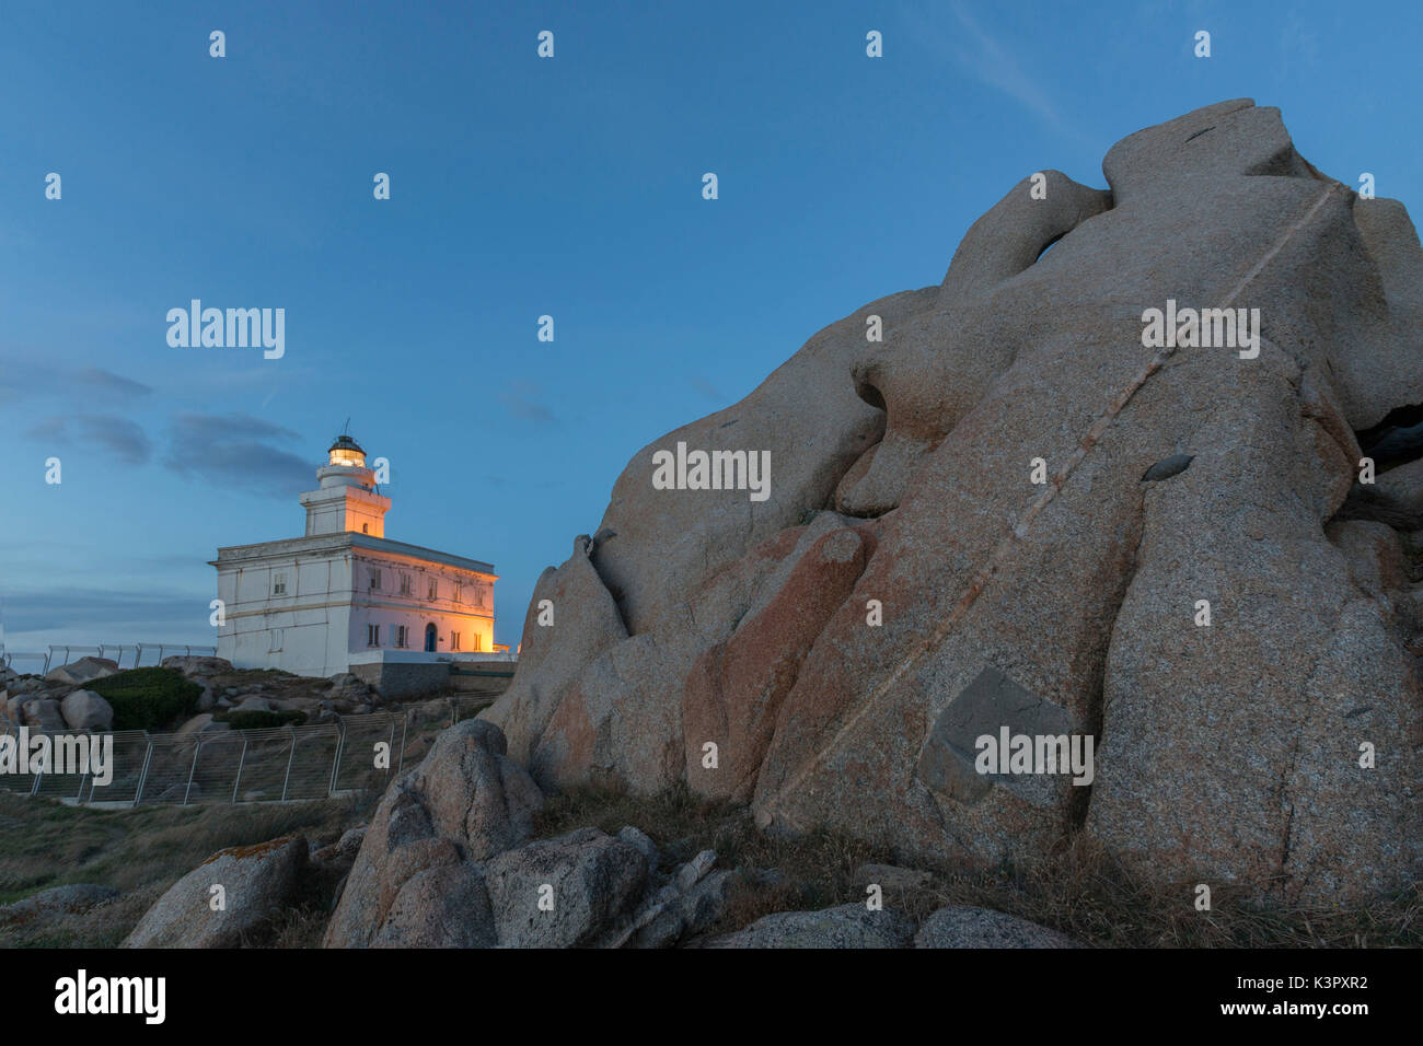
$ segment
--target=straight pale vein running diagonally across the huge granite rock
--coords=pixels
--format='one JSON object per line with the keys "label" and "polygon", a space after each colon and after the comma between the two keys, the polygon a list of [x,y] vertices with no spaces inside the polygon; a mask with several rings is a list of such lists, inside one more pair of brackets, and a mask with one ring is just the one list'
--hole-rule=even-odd
{"label": "straight pale vein running diagonally across the huge granite rock", "polygon": [[[1325,202],[1331,196],[1335,195],[1335,192],[1338,192],[1339,188],[1340,185],[1338,182],[1332,182],[1311,205],[1311,208],[1289,228],[1285,229],[1285,232],[1279,236],[1279,239],[1275,241],[1275,243],[1269,248],[1269,250],[1261,255],[1259,260],[1257,260],[1255,265],[1252,265],[1245,272],[1245,275],[1241,276],[1241,279],[1235,283],[1231,292],[1217,307],[1220,309],[1232,307],[1235,305],[1235,300],[1239,297],[1241,292],[1257,276],[1259,276],[1259,273],[1265,269],[1265,266],[1269,265],[1269,262],[1274,260],[1274,258],[1284,249],[1285,243],[1288,243],[1291,238],[1294,238],[1294,235],[1299,232],[1299,229],[1308,225],[1313,219],[1313,216],[1319,213],[1319,209],[1325,205]],[[1271,347],[1276,347],[1271,342],[1268,342],[1264,336],[1261,336],[1261,343],[1269,344]],[[1003,537],[998,548],[993,549],[993,554],[989,556],[988,562],[975,575],[973,581],[969,582],[968,589],[953,605],[953,609],[949,611],[949,616],[945,618],[945,620],[933,630],[933,633],[928,639],[921,642],[916,649],[911,650],[909,656],[906,656],[902,662],[899,662],[899,665],[895,666],[894,672],[891,672],[889,676],[879,686],[875,687],[874,693],[871,693],[869,697],[850,716],[845,724],[835,731],[835,736],[830,739],[830,743],[825,744],[825,747],[821,749],[818,753],[815,753],[810,760],[807,760],[801,766],[801,768],[797,770],[791,776],[791,778],[784,786],[781,786],[781,788],[777,790],[777,793],[766,804],[767,813],[784,818],[787,824],[793,827],[801,827],[795,823],[794,818],[788,817],[784,811],[780,810],[781,798],[788,793],[797,790],[805,781],[805,778],[810,777],[810,774],[813,774],[820,767],[820,764],[825,760],[825,757],[845,737],[850,736],[850,733],[861,723],[861,720],[864,720],[864,717],[878,706],[878,703],[884,699],[884,696],[889,693],[891,689],[894,689],[894,686],[909,672],[909,669],[918,665],[919,660],[926,653],[936,649],[943,642],[943,639],[949,635],[949,632],[952,632],[953,628],[959,623],[959,620],[962,620],[963,615],[969,611],[969,608],[972,608],[973,603],[978,602],[978,598],[983,593],[983,589],[988,588],[988,582],[998,572],[998,566],[1002,562],[1002,559],[1012,551],[1012,548],[1017,544],[1017,541],[1026,537],[1029,524],[1032,524],[1033,519],[1036,519],[1042,514],[1042,511],[1052,502],[1052,500],[1057,495],[1057,491],[1062,490],[1063,484],[1067,481],[1067,477],[1072,475],[1073,470],[1076,470],[1077,465],[1081,464],[1083,458],[1086,458],[1087,454],[1097,445],[1097,443],[1106,434],[1107,428],[1117,418],[1117,414],[1120,414],[1126,408],[1126,406],[1137,394],[1141,386],[1144,386],[1151,379],[1151,376],[1155,374],[1174,354],[1175,354],[1175,346],[1165,346],[1161,350],[1158,350],[1157,354],[1126,386],[1126,389],[1123,389],[1107,404],[1107,408],[1101,413],[1097,421],[1081,438],[1081,441],[1069,455],[1067,461],[1049,480],[1047,485],[1043,488],[1043,492],[1037,495],[1037,498],[1032,502],[1032,505],[1027,507],[1027,509],[1023,512],[1019,521]]]}

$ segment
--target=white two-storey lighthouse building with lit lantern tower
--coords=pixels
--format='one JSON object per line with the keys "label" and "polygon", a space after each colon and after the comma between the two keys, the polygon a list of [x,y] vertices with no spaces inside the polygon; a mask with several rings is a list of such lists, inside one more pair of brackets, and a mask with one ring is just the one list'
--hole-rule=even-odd
{"label": "white two-storey lighthouse building with lit lantern tower", "polygon": [[219,548],[218,656],[303,676],[353,672],[391,693],[431,689],[494,650],[490,564],[386,538],[390,498],[337,437],[302,494],[306,535]]}

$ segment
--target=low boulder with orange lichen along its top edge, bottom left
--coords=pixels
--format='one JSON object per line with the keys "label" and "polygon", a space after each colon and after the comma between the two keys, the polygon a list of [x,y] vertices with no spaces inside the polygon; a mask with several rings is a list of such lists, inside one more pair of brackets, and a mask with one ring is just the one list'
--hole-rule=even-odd
{"label": "low boulder with orange lichen along its top edge, bottom left", "polygon": [[[302,835],[219,851],[158,898],[124,948],[233,948],[295,899],[306,860]],[[219,885],[223,907],[215,911]]]}

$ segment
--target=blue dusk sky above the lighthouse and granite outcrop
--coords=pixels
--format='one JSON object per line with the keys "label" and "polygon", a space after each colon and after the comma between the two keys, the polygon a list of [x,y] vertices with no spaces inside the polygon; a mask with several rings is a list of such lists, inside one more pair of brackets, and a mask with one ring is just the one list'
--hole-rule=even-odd
{"label": "blue dusk sky above the lighthouse and granite outcrop", "polygon": [[[1278,105],[1326,174],[1423,199],[1416,3],[4,14],[11,650],[212,642],[206,561],[302,534],[296,497],[347,417],[391,461],[387,537],[492,562],[517,643],[639,447],[862,303],[938,283],[1025,175],[1101,186],[1114,141],[1200,105]],[[286,354],[169,347],[192,297],[283,307]]]}

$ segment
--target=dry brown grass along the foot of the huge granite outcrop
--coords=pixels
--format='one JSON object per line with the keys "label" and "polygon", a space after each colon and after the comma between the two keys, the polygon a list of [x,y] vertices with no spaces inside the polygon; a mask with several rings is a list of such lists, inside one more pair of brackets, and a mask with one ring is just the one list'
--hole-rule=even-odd
{"label": "dry brown grass along the foot of the huge granite outcrop", "polygon": [[[898,864],[884,847],[840,833],[800,838],[768,835],[748,811],[709,803],[684,787],[650,798],[616,790],[558,796],[545,807],[536,834],[559,835],[582,825],[616,833],[625,824],[646,831],[663,851],[665,868],[699,850],[717,851],[721,868],[774,868],[778,879],[740,882],[713,932],[727,932],[763,915],[864,901],[854,881],[867,862]],[[1195,909],[1195,882],[1151,887],[1086,837],[1066,841],[1052,861],[1030,868],[970,870],[911,862],[933,872],[925,889],[885,891],[885,904],[916,919],[945,905],[1009,912],[1103,948],[1387,948],[1423,945],[1423,889],[1359,907],[1262,907],[1245,891],[1214,887],[1212,909]]]}

